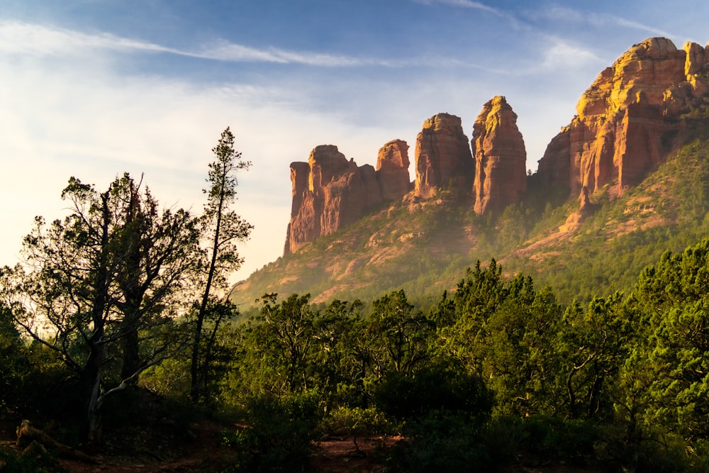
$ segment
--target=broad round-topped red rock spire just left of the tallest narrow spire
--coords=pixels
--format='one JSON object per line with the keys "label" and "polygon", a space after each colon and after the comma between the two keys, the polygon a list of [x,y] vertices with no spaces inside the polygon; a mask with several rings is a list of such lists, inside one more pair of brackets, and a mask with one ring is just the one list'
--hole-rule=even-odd
{"label": "broad round-topped red rock spire just left of the tallest narrow spire", "polygon": [[448,184],[469,192],[474,165],[459,117],[438,113],[423,122],[416,138],[415,163],[416,196],[428,199]]}

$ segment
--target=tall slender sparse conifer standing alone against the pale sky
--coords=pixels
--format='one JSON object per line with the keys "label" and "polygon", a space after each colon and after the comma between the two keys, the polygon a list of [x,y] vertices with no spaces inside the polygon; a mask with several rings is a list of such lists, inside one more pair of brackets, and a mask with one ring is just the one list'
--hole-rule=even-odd
{"label": "tall slender sparse conifer standing alone against the pale sky", "polygon": [[[208,353],[212,345],[207,343],[203,346],[203,342],[214,340],[213,336],[204,333],[210,301],[215,297],[215,291],[227,288],[228,275],[242,264],[243,258],[239,256],[236,243],[247,240],[253,228],[250,223],[230,210],[230,205],[236,198],[238,184],[235,174],[240,169],[248,169],[251,162],[242,160],[241,152],[234,149],[234,135],[228,127],[222,132],[212,152],[216,160],[209,164],[207,182],[210,187],[203,189],[207,194],[207,203],[201,218],[202,238],[207,244],[204,250],[206,262],[203,290],[196,308],[190,362],[191,398],[194,401],[204,395],[209,370]],[[217,313],[217,318],[211,325],[212,330],[218,329],[223,314],[223,311]]]}

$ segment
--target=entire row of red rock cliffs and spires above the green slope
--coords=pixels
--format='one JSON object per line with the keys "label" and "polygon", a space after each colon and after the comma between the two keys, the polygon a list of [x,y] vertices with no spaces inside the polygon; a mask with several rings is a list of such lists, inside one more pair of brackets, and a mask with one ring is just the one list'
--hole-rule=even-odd
{"label": "entire row of red rock cliffs and spires above the green slope", "polygon": [[547,146],[527,176],[517,115],[503,96],[484,104],[469,141],[459,117],[438,113],[423,123],[415,145],[415,180],[408,180],[408,145],[379,150],[376,170],[357,167],[337,147],[318,146],[308,162],[291,164],[293,204],[285,253],[357,221],[382,201],[431,199],[441,189],[461,196],[475,213],[497,215],[537,189],[579,196],[574,231],[590,212],[596,191],[615,198],[642,180],[676,148],[685,117],[709,104],[709,48],[650,38],[603,70],[581,96],[576,116]]}

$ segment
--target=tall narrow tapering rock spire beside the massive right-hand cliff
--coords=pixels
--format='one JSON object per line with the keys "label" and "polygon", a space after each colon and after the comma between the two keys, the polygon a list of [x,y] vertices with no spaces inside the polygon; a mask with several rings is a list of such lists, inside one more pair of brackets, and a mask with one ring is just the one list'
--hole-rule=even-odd
{"label": "tall narrow tapering rock spire beside the massive right-hand cliff", "polygon": [[527,190],[527,152],[517,114],[503,96],[483,106],[473,126],[476,213],[498,213]]}

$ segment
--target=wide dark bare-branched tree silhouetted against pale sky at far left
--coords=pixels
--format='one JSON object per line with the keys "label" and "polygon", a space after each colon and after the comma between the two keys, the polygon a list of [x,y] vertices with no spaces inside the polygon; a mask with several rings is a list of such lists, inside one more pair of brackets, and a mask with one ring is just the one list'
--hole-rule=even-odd
{"label": "wide dark bare-branched tree silhouetted against pale sky at far left", "polygon": [[[158,332],[179,315],[184,296],[177,294],[196,262],[199,233],[189,212],[159,211],[128,174],[100,193],[72,177],[62,199],[69,215],[49,226],[36,218],[24,238],[26,269],[4,269],[4,302],[28,335],[79,374],[81,436],[93,447],[106,396],[179,340]],[[121,369],[112,369],[115,359]]]}

